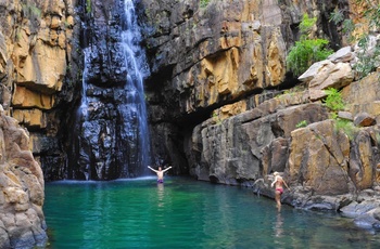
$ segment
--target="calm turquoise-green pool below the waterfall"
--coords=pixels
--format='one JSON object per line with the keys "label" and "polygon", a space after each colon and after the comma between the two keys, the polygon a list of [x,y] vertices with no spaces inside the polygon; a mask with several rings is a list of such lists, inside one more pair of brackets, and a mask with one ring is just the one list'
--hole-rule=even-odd
{"label": "calm turquoise-green pool below the waterfall", "polygon": [[351,220],[186,178],[46,184],[49,248],[379,248]]}

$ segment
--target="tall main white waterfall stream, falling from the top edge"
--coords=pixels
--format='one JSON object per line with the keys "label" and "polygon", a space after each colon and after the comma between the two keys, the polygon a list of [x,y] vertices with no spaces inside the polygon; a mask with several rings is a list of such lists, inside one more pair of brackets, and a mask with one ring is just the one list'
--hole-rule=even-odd
{"label": "tall main white waterfall stream, falling from the top edge", "polygon": [[[147,106],[143,91],[143,79],[149,76],[144,50],[140,47],[141,30],[137,23],[137,14],[132,0],[124,1],[125,23],[122,34],[127,79],[125,84],[126,100],[118,105],[123,116],[123,139],[134,143],[128,144],[128,167],[142,166],[141,174],[150,165],[150,140],[147,121]],[[127,168],[122,170],[121,178],[128,178]]]}

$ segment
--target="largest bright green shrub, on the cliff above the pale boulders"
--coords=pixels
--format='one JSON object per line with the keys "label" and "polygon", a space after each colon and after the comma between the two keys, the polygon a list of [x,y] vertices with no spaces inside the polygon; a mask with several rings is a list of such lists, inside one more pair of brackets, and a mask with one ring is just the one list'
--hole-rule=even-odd
{"label": "largest bright green shrub, on the cliff above the pale boulders", "polygon": [[300,76],[307,70],[313,63],[326,60],[333,53],[332,50],[327,48],[329,43],[328,40],[308,38],[316,21],[316,18],[308,18],[307,14],[303,16],[300,24],[302,34],[300,41],[295,42],[287,56],[287,66],[295,76]]}

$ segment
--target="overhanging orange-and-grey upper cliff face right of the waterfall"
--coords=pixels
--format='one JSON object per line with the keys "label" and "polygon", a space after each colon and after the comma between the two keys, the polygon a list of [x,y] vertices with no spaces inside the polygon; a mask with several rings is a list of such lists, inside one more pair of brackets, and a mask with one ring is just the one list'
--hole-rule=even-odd
{"label": "overhanging orange-and-grey upper cliff face right of the waterfall", "polygon": [[[326,21],[325,12],[346,9],[347,4],[141,1],[152,68],[147,82],[152,130],[170,130],[175,137],[181,131],[179,140],[162,141],[153,135],[154,153],[162,157],[178,155],[176,148],[182,146],[182,140],[186,144],[190,141],[192,127],[212,116],[224,119],[254,108],[277,95],[275,89],[294,86],[296,80],[287,71],[286,56],[299,39],[297,25],[303,13],[318,17],[314,34],[340,45],[338,27]],[[188,148],[185,153],[189,154]],[[174,171],[187,172],[183,162],[189,157],[193,156],[169,158],[182,166]]]}

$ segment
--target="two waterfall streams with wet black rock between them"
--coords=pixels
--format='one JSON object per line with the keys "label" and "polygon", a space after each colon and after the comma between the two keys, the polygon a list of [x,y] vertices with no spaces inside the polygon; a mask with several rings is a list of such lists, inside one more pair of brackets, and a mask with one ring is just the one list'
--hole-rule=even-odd
{"label": "two waterfall streams with wet black rock between them", "polygon": [[122,16],[121,50],[126,68],[116,69],[126,71],[123,88],[118,81],[112,88],[97,82],[91,70],[101,51],[91,43],[84,50],[83,93],[74,132],[78,135],[73,140],[78,167],[69,170],[68,178],[135,178],[143,175],[151,161],[143,92],[150,71],[140,48],[142,38],[132,0],[124,0]]}

